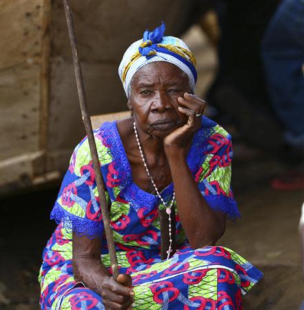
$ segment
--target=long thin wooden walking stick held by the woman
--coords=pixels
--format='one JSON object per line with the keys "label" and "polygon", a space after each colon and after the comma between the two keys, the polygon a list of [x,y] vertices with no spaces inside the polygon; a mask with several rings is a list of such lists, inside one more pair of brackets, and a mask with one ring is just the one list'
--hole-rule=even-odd
{"label": "long thin wooden walking stick held by the woman", "polygon": [[92,156],[92,162],[93,162],[93,167],[94,167],[94,172],[95,172],[95,180],[97,183],[99,201],[101,205],[101,214],[103,216],[103,225],[105,227],[105,236],[107,238],[108,249],[110,253],[112,273],[113,273],[114,279],[116,280],[117,276],[119,275],[119,269],[118,269],[118,262],[117,262],[112,229],[110,227],[110,214],[109,214],[107,202],[105,200],[105,185],[103,183],[103,178],[101,176],[101,169],[99,165],[99,158],[98,158],[97,148],[96,148],[94,134],[92,130],[92,123],[91,123],[90,115],[88,112],[88,106],[87,106],[86,99],[85,99],[83,76],[81,72],[81,65],[79,63],[79,58],[78,58],[77,40],[76,40],[76,35],[74,32],[74,22],[73,22],[73,17],[72,17],[72,12],[70,9],[69,1],[63,0],[63,6],[65,10],[66,22],[68,24],[68,32],[69,32],[69,37],[70,37],[74,71],[75,71],[77,90],[78,90],[78,96],[79,96],[79,105],[81,109],[83,125],[85,127],[85,132],[88,136],[88,143],[90,146],[90,152]]}

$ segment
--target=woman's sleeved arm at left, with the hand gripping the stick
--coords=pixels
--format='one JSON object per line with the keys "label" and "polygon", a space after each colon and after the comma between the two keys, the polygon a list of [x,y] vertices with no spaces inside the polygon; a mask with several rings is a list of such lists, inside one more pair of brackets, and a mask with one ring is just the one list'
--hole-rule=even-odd
{"label": "woman's sleeved arm at left, with the hand gripping the stick", "polygon": [[[104,149],[103,139],[97,136],[99,131],[94,132],[94,135],[97,149]],[[92,205],[99,205],[99,201],[94,195],[96,184],[92,174],[92,158],[88,154],[90,154],[90,147],[85,137],[74,149],[51,217],[68,232],[70,227],[73,227],[74,279],[99,293],[107,309],[128,309],[134,295],[130,288],[131,278],[120,274],[114,281],[108,269],[101,264],[101,239],[92,238],[101,236],[104,230],[101,209],[91,208]],[[105,194],[108,197],[107,192]],[[76,203],[79,201],[82,203]],[[85,210],[83,205],[86,205]],[[85,236],[79,237],[78,233]]]}

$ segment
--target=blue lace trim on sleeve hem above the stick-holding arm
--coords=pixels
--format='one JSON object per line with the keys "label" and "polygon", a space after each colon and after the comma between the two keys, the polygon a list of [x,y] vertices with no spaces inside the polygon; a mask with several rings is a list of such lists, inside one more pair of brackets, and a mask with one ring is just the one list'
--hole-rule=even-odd
{"label": "blue lace trim on sleeve hem above the stick-holding arm", "polygon": [[102,221],[89,220],[88,218],[81,218],[79,216],[74,216],[68,211],[65,211],[60,205],[57,203],[54,205],[51,215],[51,220],[55,220],[57,224],[63,225],[68,233],[74,231],[77,236],[87,236],[89,239],[93,239],[97,236],[101,236],[101,232],[103,231],[103,223]]}

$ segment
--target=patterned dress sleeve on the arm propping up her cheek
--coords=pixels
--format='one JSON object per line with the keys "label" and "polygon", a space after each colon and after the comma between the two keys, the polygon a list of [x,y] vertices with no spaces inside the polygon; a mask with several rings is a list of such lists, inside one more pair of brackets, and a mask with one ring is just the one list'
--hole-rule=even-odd
{"label": "patterned dress sleeve on the arm propping up her cheek", "polygon": [[231,136],[219,125],[203,147],[203,162],[195,174],[196,183],[212,209],[220,210],[228,218],[240,217],[230,187],[232,142]]}

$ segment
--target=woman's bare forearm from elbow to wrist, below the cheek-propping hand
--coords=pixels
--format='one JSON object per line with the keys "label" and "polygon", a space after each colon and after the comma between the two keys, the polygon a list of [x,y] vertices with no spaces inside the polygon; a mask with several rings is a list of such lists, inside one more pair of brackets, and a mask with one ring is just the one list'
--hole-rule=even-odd
{"label": "woman's bare forearm from elbow to wrist, below the cheek-propping hand", "polygon": [[166,153],[181,225],[192,248],[214,245],[225,231],[225,215],[212,210],[194,181],[183,150]]}

